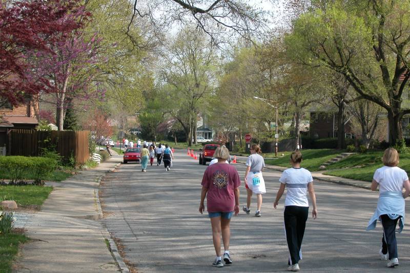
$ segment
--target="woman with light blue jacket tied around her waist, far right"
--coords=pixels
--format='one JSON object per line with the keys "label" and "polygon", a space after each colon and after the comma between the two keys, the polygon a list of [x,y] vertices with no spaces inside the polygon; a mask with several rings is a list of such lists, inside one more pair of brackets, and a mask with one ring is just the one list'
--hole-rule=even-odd
{"label": "woman with light blue jacket tied around her waist, far right", "polygon": [[[404,226],[404,199],[410,194],[410,182],[406,172],[400,169],[399,154],[393,148],[384,151],[384,166],[377,169],[372,181],[372,191],[380,189],[376,212],[367,225],[367,230],[376,227],[377,220],[383,226],[382,248],[379,250],[381,260],[387,261],[387,267],[399,265],[397,255],[396,225],[398,232]],[[405,192],[403,193],[403,187]]]}

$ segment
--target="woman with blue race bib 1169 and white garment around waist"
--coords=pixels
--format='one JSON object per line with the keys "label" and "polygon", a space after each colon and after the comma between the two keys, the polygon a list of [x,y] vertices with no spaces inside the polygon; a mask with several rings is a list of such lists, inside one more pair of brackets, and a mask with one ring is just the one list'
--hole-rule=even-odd
{"label": "woman with blue race bib 1169 and white garment around waist", "polygon": [[247,171],[245,172],[245,187],[247,188],[248,193],[247,205],[242,207],[245,213],[250,214],[252,194],[256,194],[256,217],[262,216],[260,213],[262,194],[266,193],[265,181],[262,176],[262,169],[265,166],[265,161],[263,160],[263,157],[259,155],[260,152],[259,145],[253,144],[251,146],[251,155],[248,157],[247,163],[245,164],[247,166]]}

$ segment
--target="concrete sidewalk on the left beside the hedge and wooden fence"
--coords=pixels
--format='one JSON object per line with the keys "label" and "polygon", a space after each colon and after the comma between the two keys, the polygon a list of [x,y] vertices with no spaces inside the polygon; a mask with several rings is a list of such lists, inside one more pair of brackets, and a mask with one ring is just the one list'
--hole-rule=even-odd
{"label": "concrete sidewalk on the left beside the hedge and wooden fence", "polygon": [[[106,243],[112,241],[110,235],[98,221],[103,217],[99,182],[121,160],[114,156],[95,169],[49,183],[54,190],[40,212],[17,217],[16,226],[24,227],[32,241],[23,245],[16,272],[121,271],[119,266],[125,264],[114,259]],[[115,252],[115,244],[111,247]]]}

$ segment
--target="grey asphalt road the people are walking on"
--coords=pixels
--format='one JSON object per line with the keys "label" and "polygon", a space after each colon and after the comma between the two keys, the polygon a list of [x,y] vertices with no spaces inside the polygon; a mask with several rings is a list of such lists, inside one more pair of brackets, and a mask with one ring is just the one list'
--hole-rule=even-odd
{"label": "grey asphalt road the people are walking on", "polygon": [[[174,166],[122,164],[108,174],[101,187],[107,217],[103,220],[112,234],[125,246],[126,259],[138,272],[283,272],[288,247],[283,232],[283,202],[272,203],[279,187],[279,172],[267,171],[262,217],[243,212],[231,221],[230,253],[234,264],[212,267],[212,245],[208,214],[198,212],[200,181],[206,166],[185,153],[175,152]],[[244,165],[236,164],[240,177]],[[303,239],[304,272],[409,272],[410,228],[397,235],[400,266],[386,268],[380,261],[380,224],[372,232],[365,228],[373,215],[377,193],[350,186],[315,182],[319,217],[311,217]],[[246,192],[241,185],[241,207]],[[255,197],[252,200],[255,211]],[[410,206],[406,205],[407,217]],[[311,211],[310,211],[311,213]]]}

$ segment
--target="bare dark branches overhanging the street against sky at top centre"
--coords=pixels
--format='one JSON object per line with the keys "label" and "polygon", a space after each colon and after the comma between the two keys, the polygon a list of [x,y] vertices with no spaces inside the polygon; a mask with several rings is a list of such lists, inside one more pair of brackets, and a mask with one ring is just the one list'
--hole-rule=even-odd
{"label": "bare dark branches overhanging the street against sky at top centre", "polygon": [[133,4],[130,26],[135,16],[148,17],[154,28],[195,23],[216,44],[219,38],[227,39],[228,33],[251,39],[269,25],[269,12],[245,0],[134,0]]}

